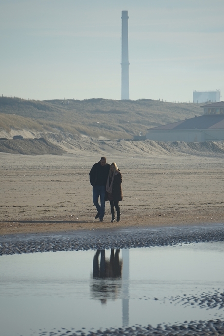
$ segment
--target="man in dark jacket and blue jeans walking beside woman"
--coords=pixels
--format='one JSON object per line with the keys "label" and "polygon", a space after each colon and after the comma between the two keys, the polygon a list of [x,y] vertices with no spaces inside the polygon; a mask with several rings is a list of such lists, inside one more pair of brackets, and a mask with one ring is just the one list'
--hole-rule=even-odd
{"label": "man in dark jacket and blue jeans walking beside woman", "polygon": [[[93,203],[97,209],[95,218],[103,222],[105,214],[106,183],[110,165],[106,163],[106,157],[102,156],[100,161],[95,163],[90,170],[90,184],[93,186]],[[99,205],[100,196],[100,205]]]}

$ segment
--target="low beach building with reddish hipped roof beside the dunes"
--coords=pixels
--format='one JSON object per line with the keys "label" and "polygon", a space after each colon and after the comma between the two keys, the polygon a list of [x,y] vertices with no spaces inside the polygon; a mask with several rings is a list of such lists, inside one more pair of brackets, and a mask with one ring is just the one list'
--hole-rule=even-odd
{"label": "low beach building with reddish hipped roof beside the dunes", "polygon": [[204,114],[148,129],[155,141],[203,142],[224,140],[224,101],[202,106]]}

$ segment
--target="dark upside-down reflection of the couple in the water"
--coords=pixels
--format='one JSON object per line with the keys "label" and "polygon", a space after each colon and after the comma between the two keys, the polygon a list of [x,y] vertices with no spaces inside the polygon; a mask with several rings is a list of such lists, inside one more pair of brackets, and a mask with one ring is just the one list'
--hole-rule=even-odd
{"label": "dark upside-down reflection of the couple in the water", "polygon": [[[111,249],[110,259],[105,250],[97,250],[93,258],[93,282],[91,293],[93,299],[106,303],[107,299],[116,299],[121,290],[122,261],[119,261],[120,250]],[[100,255],[100,262],[99,262]]]}

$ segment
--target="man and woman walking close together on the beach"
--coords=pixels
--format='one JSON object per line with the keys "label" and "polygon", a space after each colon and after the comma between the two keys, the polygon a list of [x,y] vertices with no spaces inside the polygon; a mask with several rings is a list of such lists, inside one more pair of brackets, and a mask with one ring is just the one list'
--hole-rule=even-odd
{"label": "man and woman walking close together on the beach", "polygon": [[[103,222],[105,214],[105,201],[110,201],[111,222],[115,222],[115,211],[117,222],[120,221],[119,201],[122,201],[121,182],[122,176],[115,162],[111,165],[106,163],[106,157],[102,156],[100,161],[95,163],[90,170],[90,184],[93,186],[93,203],[97,209],[95,218]],[[99,205],[100,197],[100,205]]]}

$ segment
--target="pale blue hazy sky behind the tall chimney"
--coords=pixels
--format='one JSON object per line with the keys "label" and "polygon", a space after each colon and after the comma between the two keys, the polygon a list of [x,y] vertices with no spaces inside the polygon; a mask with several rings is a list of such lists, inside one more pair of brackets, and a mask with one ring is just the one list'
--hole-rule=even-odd
{"label": "pale blue hazy sky behind the tall chimney", "polygon": [[224,95],[224,0],[0,0],[0,95],[120,100],[122,10],[130,99]]}

